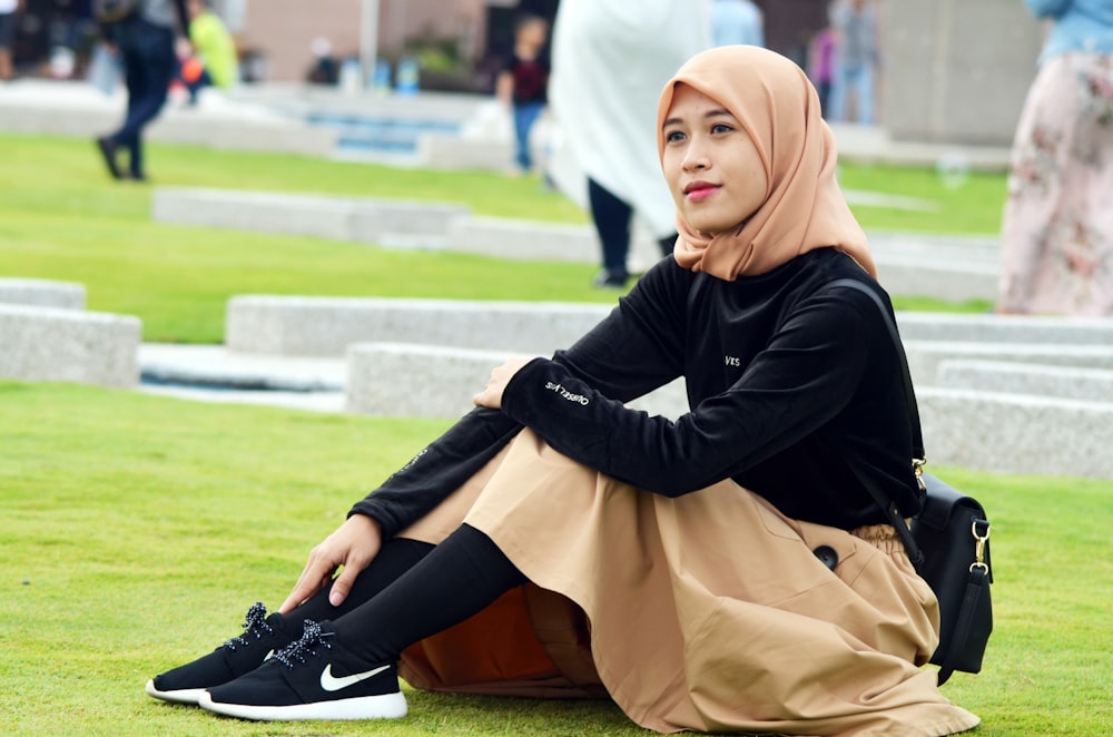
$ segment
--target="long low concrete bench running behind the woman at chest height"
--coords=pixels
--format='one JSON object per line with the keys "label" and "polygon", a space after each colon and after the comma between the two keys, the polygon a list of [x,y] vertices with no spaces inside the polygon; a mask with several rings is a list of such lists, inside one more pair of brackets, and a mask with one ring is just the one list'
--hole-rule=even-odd
{"label": "long low concrete bench running behind the woman at chest height", "polygon": [[[242,295],[228,302],[225,336],[232,350],[276,355],[339,356],[349,344],[362,342],[546,353],[571,345],[611,308],[604,304]],[[969,355],[974,352],[977,357],[996,358],[1002,351],[1007,354],[1005,346],[1012,344],[1044,345],[1026,350],[1037,354],[1057,352],[1056,345],[1113,345],[1110,320],[900,312],[897,323],[906,344],[940,356],[952,350],[963,357],[974,357]],[[957,345],[948,348],[949,344]]]}

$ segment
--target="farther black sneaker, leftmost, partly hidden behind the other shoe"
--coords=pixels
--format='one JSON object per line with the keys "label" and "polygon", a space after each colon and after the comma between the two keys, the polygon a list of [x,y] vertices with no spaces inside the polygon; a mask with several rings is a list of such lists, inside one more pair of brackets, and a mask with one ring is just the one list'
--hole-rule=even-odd
{"label": "farther black sneaker, leftmost, partly hidden behind the other shoe", "polygon": [[256,602],[247,610],[244,633],[225,641],[207,656],[168,670],[147,681],[147,694],[165,701],[197,704],[206,688],[227,684],[263,665],[274,652],[293,641],[284,629],[283,616],[267,617],[267,608]]}

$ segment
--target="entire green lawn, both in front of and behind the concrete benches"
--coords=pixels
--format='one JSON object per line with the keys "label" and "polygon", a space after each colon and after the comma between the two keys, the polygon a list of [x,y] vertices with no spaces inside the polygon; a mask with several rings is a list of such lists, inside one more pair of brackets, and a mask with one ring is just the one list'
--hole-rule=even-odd
{"label": "entire green lawn, both in front of and behind the concrete benches", "polygon": [[[158,184],[463,203],[587,223],[534,183],[151,146]],[[76,281],[149,341],[220,342],[235,294],[612,302],[590,265],[510,263],[150,220],[151,188],[109,181],[83,139],[0,135],[0,276]],[[994,234],[1002,176],[844,166],[844,186],[929,199],[857,208],[867,229]],[[984,309],[897,295],[900,308]],[[0,346],[2,350],[2,346]],[[275,606],[352,502],[446,426],[0,381],[0,728],[18,735],[640,735],[609,702],[407,691],[401,723],[253,725],[142,694],[155,672]],[[939,472],[938,469],[936,469]],[[1113,483],[943,470],[994,522],[985,671],[944,691],[981,736],[1113,733]]]}

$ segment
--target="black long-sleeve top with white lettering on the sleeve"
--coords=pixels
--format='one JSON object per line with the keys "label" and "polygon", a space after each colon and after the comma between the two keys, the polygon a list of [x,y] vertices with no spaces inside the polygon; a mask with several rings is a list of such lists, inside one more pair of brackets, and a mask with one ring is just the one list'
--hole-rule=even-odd
{"label": "black long-sleeve top with white lettering on the sleeve", "polygon": [[[730,478],[790,518],[843,529],[886,521],[858,463],[910,515],[919,495],[896,346],[869,295],[831,285],[841,278],[885,294],[833,248],[735,282],[663,259],[573,346],[520,370],[501,412],[466,414],[352,513],[395,534],[528,426],[647,492]],[[680,375],[681,417],[624,406]]]}

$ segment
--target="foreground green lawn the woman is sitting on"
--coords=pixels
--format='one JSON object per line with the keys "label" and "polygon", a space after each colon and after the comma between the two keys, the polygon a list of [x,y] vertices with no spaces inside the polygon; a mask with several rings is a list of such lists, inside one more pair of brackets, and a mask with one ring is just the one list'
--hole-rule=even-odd
{"label": "foreground green lawn the woman is sitting on", "polygon": [[[254,725],[146,680],[276,606],[309,548],[445,423],[0,382],[0,726],[13,735],[641,735],[609,702],[407,691],[387,723]],[[979,737],[1113,734],[1113,483],[936,469],[993,520]]]}

